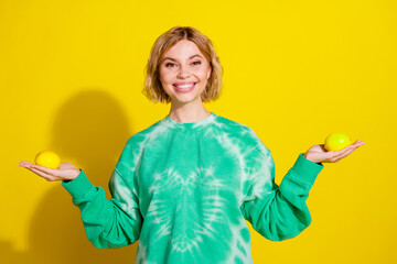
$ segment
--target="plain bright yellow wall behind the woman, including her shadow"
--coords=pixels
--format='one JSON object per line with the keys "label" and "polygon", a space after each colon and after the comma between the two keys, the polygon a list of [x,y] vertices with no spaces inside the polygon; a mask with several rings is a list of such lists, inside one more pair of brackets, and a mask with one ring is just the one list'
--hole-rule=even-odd
{"label": "plain bright yellow wall behind the woman, including her shadow", "polygon": [[249,224],[254,262],[397,263],[396,12],[393,0],[1,0],[2,262],[133,263],[138,242],[95,249],[61,183],[18,164],[53,150],[108,190],[128,138],[169,112],[141,94],[151,46],[191,25],[225,69],[207,109],[258,134],[278,184],[331,132],[366,143],[324,164],[300,235],[271,242]]}

